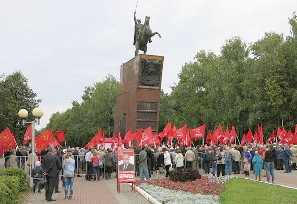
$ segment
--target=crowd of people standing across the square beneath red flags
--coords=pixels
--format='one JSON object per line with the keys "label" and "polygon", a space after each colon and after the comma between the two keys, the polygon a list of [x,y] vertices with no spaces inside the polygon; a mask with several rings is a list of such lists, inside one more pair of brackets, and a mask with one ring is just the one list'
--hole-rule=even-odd
{"label": "crowd of people standing across the square beneath red flags", "polygon": [[[177,144],[171,147],[159,146],[142,148],[130,147],[135,152],[135,171],[141,180],[152,178],[156,172],[156,178],[166,178],[172,171],[183,168],[204,170],[204,174],[214,176],[226,176],[240,174],[249,176],[250,170],[255,174],[255,179],[261,180],[261,175],[267,176],[267,182],[274,183],[274,170],[284,170],[290,173],[296,170],[297,145],[287,144],[248,144],[241,145],[197,145],[196,147],[179,147]],[[71,148],[56,149],[49,147],[40,153],[34,153],[20,147],[4,154],[5,167],[19,167],[25,170],[27,165],[31,176],[34,178],[33,192],[36,187],[41,191],[38,183],[47,178],[46,199],[54,201],[53,193],[59,193],[59,175],[63,182],[65,199],[73,196],[74,176],[85,175],[86,181],[99,181],[102,176],[111,179],[114,172],[117,176],[117,152],[119,149]],[[35,167],[32,169],[32,156]],[[70,195],[68,196],[68,187]]]}

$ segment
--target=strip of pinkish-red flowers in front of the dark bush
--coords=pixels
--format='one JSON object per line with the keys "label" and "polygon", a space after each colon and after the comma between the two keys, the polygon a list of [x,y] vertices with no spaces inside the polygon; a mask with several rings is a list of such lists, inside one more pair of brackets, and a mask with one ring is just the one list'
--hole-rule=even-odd
{"label": "strip of pinkish-red flowers in front of the dark bush", "polygon": [[[140,186],[143,181],[137,181],[136,185]],[[222,182],[211,181],[209,177],[203,176],[201,179],[187,182],[174,182],[170,179],[154,179],[145,182],[154,186],[160,186],[169,190],[184,191],[201,195],[218,196],[225,187]]]}

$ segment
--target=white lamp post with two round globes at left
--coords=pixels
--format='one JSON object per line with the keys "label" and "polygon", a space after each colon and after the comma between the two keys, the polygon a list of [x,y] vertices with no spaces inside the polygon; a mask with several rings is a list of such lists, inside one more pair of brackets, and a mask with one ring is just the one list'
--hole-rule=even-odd
{"label": "white lamp post with two round globes at left", "polygon": [[28,117],[28,111],[26,109],[20,109],[18,112],[19,117],[23,118],[23,125],[25,124],[32,124],[32,139],[31,139],[31,169],[35,167],[35,162],[34,162],[34,153],[35,153],[35,124],[40,125],[40,118],[43,116],[43,111],[41,108],[36,107],[32,110],[32,114],[35,117],[34,120],[31,122],[26,122],[24,118]]}

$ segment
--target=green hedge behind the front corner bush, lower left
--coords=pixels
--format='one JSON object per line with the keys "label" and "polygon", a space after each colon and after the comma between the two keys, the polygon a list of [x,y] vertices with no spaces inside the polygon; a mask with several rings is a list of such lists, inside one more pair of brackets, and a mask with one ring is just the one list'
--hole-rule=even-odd
{"label": "green hedge behind the front corner bush, lower left", "polygon": [[5,168],[4,171],[0,171],[2,176],[16,176],[19,179],[19,191],[25,191],[28,189],[27,186],[27,175],[23,169],[9,167]]}

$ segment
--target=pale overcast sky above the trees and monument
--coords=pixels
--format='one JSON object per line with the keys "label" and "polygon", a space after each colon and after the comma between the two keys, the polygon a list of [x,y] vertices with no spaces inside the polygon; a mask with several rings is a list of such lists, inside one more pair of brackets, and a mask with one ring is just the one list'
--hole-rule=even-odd
{"label": "pale overcast sky above the trees and monument", "polygon": [[[2,0],[0,3],[0,73],[23,72],[42,99],[45,127],[56,111],[81,102],[85,86],[134,57],[137,0]],[[139,0],[137,18],[150,16],[148,54],[164,56],[162,89],[200,50],[219,54],[227,39],[248,44],[274,31],[290,34],[288,17],[297,0]],[[142,52],[141,52],[142,53]]]}

